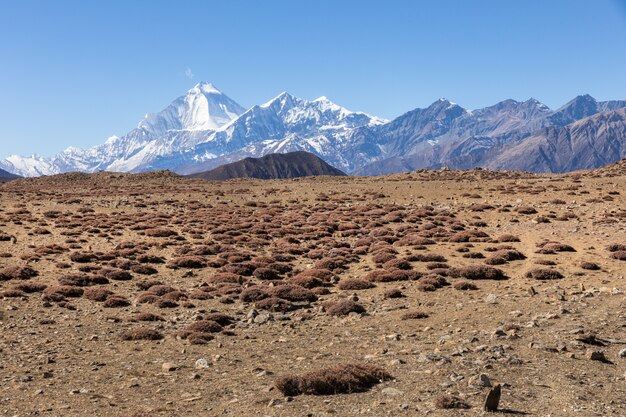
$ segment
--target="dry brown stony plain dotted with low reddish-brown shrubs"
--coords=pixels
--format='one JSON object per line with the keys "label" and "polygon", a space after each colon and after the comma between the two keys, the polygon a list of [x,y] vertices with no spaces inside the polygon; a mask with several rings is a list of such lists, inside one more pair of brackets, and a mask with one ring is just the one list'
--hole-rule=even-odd
{"label": "dry brown stony plain dotted with low reddish-brown shrubs", "polygon": [[625,162],[0,185],[0,415],[624,416]]}

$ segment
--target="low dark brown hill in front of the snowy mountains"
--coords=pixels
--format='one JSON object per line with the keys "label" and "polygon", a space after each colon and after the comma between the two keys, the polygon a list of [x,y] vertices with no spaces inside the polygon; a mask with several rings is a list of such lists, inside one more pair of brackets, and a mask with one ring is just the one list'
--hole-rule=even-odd
{"label": "low dark brown hill in front of the snowy mountains", "polygon": [[262,158],[245,158],[211,171],[191,175],[207,180],[233,178],[281,179],[319,175],[346,175],[309,152],[270,154]]}

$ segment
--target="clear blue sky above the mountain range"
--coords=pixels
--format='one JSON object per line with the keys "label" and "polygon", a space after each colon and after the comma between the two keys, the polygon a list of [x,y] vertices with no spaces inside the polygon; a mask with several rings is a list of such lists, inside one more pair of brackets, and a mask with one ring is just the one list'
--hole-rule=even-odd
{"label": "clear blue sky above the mountain range", "polygon": [[0,3],[0,156],[102,143],[200,80],[245,107],[288,91],[386,118],[440,97],[623,99],[626,2]]}

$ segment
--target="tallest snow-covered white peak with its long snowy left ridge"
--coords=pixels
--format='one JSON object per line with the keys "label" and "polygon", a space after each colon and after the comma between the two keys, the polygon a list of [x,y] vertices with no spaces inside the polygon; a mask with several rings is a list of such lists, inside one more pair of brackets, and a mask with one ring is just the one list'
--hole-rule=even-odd
{"label": "tallest snow-covered white peak with its long snowy left ridge", "polygon": [[133,171],[151,158],[193,148],[245,109],[210,83],[199,83],[158,113],[148,114],[128,134],[88,149],[69,147],[52,158],[12,155],[0,168],[22,175],[68,171]]}

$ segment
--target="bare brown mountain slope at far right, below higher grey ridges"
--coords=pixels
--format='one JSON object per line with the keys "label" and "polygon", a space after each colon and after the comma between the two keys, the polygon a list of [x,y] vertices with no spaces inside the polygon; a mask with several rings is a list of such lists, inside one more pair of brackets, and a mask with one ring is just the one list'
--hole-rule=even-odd
{"label": "bare brown mountain slope at far right, below higher grey ridges", "polygon": [[626,157],[626,109],[598,113],[562,128],[546,128],[486,155],[494,169],[566,172],[593,169]]}

